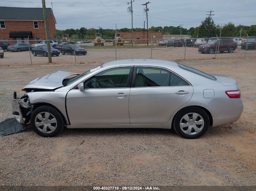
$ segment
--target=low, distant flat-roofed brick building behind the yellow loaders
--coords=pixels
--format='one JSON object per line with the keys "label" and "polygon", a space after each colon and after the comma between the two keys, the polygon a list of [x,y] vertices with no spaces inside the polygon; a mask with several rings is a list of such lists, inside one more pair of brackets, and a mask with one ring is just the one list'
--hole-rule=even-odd
{"label": "low, distant flat-roofed brick building behind the yellow loaders", "polygon": [[[122,39],[131,39],[131,32],[120,32]],[[133,32],[133,38],[136,39],[137,44],[145,44],[147,43],[146,40],[141,39],[147,39],[147,31],[134,31]],[[150,32],[148,31],[148,39],[161,39],[162,38],[162,32]],[[131,41],[129,40],[129,43]]]}

